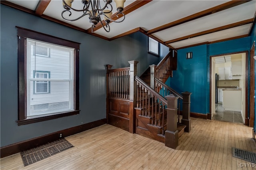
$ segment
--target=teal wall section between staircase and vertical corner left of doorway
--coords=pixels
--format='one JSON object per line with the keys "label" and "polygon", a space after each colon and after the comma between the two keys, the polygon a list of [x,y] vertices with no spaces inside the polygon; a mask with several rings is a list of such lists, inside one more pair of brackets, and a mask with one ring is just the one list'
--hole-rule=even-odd
{"label": "teal wall section between staircase and vertical corner left of doorway", "polygon": [[[192,59],[186,59],[187,52],[193,53]],[[170,87],[177,92],[192,92],[192,112],[207,113],[206,56],[206,45],[178,50],[177,70],[173,71],[173,77],[170,78]]]}

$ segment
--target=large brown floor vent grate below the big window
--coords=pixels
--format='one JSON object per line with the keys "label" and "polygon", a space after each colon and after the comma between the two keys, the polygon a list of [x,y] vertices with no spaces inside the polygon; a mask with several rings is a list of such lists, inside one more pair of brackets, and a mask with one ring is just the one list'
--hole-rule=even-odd
{"label": "large brown floor vent grate below the big window", "polygon": [[28,166],[72,147],[73,145],[66,139],[59,139],[58,141],[20,152],[20,155],[24,166]]}

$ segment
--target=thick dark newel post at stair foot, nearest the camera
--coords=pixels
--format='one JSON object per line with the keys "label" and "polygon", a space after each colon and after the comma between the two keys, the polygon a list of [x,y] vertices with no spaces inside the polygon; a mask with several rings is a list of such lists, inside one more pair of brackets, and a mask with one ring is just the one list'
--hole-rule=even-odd
{"label": "thick dark newel post at stair foot, nearest the camera", "polygon": [[178,146],[179,132],[177,129],[178,97],[173,94],[165,96],[167,99],[167,127],[165,131],[165,146],[175,149]]}

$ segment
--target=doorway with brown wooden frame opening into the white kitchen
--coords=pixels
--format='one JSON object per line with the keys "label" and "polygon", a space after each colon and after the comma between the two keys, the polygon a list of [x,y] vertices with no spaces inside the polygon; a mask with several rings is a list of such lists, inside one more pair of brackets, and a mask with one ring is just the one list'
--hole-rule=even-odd
{"label": "doorway with brown wooden frame opening into the white kitchen", "polygon": [[210,56],[212,119],[246,124],[247,57],[246,51]]}

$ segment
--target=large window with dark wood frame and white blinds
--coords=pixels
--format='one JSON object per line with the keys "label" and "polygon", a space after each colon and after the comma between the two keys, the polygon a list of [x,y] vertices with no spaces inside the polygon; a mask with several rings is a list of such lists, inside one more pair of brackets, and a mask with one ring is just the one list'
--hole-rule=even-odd
{"label": "large window with dark wood frame and white blinds", "polygon": [[18,125],[78,114],[79,43],[17,28]]}

